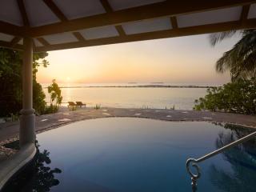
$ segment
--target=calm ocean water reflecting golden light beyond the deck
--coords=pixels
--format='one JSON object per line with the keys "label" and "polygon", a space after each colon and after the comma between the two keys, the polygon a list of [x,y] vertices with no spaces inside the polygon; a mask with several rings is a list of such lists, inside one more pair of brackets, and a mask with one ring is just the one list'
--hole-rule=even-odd
{"label": "calm ocean water reflecting golden light beyond the deck", "polygon": [[[129,87],[129,86],[184,86],[193,84],[163,84],[163,83],[126,83],[126,84],[59,84],[62,86],[62,106],[66,102],[85,102],[88,106],[126,107],[126,108],[156,108],[175,107],[177,110],[192,110],[194,100],[206,94],[206,88],[180,87]],[[46,102],[50,102],[47,84],[42,84],[46,93]],[[111,87],[108,87],[111,86]],[[122,87],[114,87],[122,86]],[[128,86],[128,87],[123,87]],[[197,86],[213,86],[198,85]],[[218,86],[218,85],[214,85]]]}

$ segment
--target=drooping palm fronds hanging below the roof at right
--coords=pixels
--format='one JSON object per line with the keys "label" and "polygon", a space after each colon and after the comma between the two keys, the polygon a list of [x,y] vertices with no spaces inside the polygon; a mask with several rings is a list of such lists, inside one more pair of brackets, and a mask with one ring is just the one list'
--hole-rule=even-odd
{"label": "drooping palm fronds hanging below the roof at right", "polygon": [[210,34],[210,43],[215,46],[223,39],[238,33],[242,34],[242,38],[216,62],[217,72],[224,73],[226,70],[230,70],[232,81],[238,78],[256,77],[256,30],[231,30]]}

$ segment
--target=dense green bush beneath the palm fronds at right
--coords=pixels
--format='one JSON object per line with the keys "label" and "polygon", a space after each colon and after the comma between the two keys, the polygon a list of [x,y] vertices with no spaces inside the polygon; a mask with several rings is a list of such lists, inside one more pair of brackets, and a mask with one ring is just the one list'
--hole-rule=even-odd
{"label": "dense green bush beneath the palm fronds at right", "polygon": [[194,110],[256,114],[256,79],[239,78],[224,86],[207,89],[204,98],[195,100]]}

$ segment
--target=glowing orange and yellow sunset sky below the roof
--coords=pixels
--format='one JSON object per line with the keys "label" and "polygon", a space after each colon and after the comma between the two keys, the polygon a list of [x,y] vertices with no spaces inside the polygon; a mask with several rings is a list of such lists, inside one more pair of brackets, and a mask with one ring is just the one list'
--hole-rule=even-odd
{"label": "glowing orange and yellow sunset sky below the roof", "polygon": [[234,37],[213,47],[204,34],[50,51],[50,66],[39,68],[38,82],[225,83],[229,74],[217,74],[214,65],[237,41]]}

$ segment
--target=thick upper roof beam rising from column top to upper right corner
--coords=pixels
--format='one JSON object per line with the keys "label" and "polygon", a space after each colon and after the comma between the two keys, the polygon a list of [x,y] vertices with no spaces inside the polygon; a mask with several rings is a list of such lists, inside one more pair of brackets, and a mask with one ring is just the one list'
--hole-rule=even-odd
{"label": "thick upper roof beam rising from column top to upper right corner", "polygon": [[[49,0],[50,1],[50,0]],[[104,2],[104,1],[103,1]],[[255,0],[183,0],[157,2],[146,6],[138,6],[126,10],[117,10],[105,14],[77,18],[67,22],[59,22],[30,29],[30,36],[40,37],[47,34],[57,34],[69,31],[83,30],[98,26],[121,25],[124,22],[134,22],[143,19],[175,16],[206,10],[215,10],[231,6],[246,6]],[[106,3],[106,2],[104,2]],[[186,6],[184,6],[186,5]]]}

